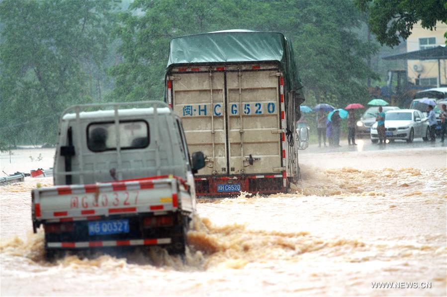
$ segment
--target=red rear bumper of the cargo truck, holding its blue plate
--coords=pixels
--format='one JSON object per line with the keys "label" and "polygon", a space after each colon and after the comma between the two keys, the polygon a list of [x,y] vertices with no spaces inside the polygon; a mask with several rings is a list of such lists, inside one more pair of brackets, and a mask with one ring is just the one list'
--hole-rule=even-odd
{"label": "red rear bumper of the cargo truck, holding its blue plate", "polygon": [[[272,194],[285,192],[287,181],[283,175],[245,175],[245,176],[201,176],[194,178],[196,195],[199,196],[228,196],[239,195],[240,192],[252,194]],[[240,190],[225,190],[224,185],[240,185]]]}

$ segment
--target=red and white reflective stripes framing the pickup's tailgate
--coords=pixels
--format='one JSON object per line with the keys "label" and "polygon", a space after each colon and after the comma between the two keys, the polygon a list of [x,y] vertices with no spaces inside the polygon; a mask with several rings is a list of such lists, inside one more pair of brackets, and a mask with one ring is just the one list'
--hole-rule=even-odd
{"label": "red and white reflective stripes framing the pickup's tailgate", "polygon": [[[34,190],[34,212],[37,219],[42,218],[42,210],[40,208],[40,197],[45,196],[58,196],[58,195],[82,195],[86,193],[110,193],[116,191],[131,191],[131,190],[145,190],[157,187],[166,187],[167,184],[171,185],[172,190],[172,207],[177,208],[179,206],[178,193],[177,193],[177,180],[180,181],[183,186],[186,186],[185,180],[173,175],[157,176],[150,178],[141,178],[136,180],[123,180],[96,184],[85,185],[67,185],[67,186],[53,186],[47,187],[44,191],[37,188]],[[103,215],[114,215],[121,213],[134,213],[134,212],[148,212],[148,211],[163,211],[165,205],[138,205],[129,207],[100,207],[97,209],[71,209],[71,210],[58,210],[53,211],[52,218],[59,222],[68,222],[76,220],[97,220]],[[48,219],[48,218],[46,218]]]}

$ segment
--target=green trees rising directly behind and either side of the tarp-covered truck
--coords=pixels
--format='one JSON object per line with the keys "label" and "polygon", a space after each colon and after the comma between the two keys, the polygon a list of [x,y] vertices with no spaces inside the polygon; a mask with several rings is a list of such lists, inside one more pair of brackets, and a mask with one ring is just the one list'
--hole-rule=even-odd
{"label": "green trees rising directly behind and either side of the tarp-covered truck", "polygon": [[311,102],[367,100],[366,80],[377,78],[365,62],[377,48],[358,38],[362,15],[350,0],[135,0],[129,9],[116,31],[124,62],[110,71],[117,100],[163,96],[171,38],[235,28],[290,38]]}

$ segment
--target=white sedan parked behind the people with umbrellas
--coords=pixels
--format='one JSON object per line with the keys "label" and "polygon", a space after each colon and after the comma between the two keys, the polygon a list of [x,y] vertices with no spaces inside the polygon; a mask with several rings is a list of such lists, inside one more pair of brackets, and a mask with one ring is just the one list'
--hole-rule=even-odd
{"label": "white sedan parked behind the people with umbrellas", "polygon": [[[377,143],[377,122],[371,127],[371,141]],[[401,109],[385,113],[385,136],[389,140],[402,139],[413,142],[420,138],[427,141],[430,137],[430,125],[427,117],[415,109]]]}

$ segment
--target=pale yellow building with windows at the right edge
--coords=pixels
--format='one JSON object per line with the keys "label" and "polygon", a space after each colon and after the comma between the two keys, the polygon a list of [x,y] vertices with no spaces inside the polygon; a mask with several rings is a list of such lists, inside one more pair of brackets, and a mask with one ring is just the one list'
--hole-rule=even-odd
{"label": "pale yellow building with windows at the right edge", "polygon": [[[407,52],[424,50],[437,46],[446,46],[444,33],[447,24],[438,22],[436,30],[424,29],[418,22],[413,26],[412,33],[407,39]],[[421,87],[446,87],[447,86],[447,64],[446,59],[440,60],[408,60],[408,81]],[[441,73],[439,73],[441,72]],[[441,79],[439,80],[439,74]]]}

